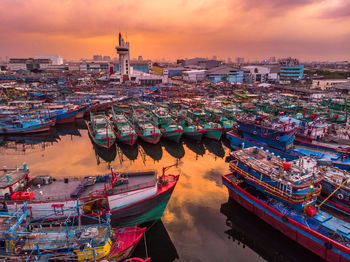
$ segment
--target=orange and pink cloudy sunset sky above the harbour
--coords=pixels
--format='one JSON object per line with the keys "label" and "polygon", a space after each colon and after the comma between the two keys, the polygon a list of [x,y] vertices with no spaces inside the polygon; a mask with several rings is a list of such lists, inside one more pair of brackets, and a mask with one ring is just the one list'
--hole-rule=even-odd
{"label": "orange and pink cloudy sunset sky above the harbour", "polygon": [[350,61],[350,0],[0,0],[0,57]]}

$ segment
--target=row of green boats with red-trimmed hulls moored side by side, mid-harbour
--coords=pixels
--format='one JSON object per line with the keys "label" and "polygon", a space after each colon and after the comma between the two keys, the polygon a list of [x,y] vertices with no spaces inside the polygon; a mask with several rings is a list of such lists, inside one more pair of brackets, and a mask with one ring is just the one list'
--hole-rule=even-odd
{"label": "row of green boats with red-trimmed hulls moored side by side, mid-harbour", "polygon": [[228,119],[212,108],[174,110],[169,105],[115,105],[109,115],[91,112],[87,121],[93,141],[107,148],[115,141],[133,145],[138,138],[151,144],[157,144],[161,137],[179,143],[182,135],[197,141],[203,136],[220,140],[235,123],[232,116]]}

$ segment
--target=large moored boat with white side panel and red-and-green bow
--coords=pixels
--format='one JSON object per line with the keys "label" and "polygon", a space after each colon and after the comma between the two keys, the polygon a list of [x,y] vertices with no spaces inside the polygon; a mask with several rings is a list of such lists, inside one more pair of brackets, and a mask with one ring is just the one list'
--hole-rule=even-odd
{"label": "large moored boat with white side panel and red-and-green bow", "polygon": [[0,198],[13,212],[25,201],[35,220],[65,220],[79,206],[83,224],[111,213],[111,225],[140,225],[160,219],[179,175],[155,171],[122,172],[83,178],[29,177],[26,164],[2,170]]}

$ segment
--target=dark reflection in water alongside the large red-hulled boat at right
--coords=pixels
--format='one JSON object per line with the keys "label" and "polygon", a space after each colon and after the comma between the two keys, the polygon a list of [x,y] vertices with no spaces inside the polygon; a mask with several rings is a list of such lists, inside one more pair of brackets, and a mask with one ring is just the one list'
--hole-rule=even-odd
{"label": "dark reflection in water alongside the large red-hulled boat at right", "polygon": [[267,261],[323,261],[247,211],[233,199],[221,205],[227,217],[225,233],[258,253]]}

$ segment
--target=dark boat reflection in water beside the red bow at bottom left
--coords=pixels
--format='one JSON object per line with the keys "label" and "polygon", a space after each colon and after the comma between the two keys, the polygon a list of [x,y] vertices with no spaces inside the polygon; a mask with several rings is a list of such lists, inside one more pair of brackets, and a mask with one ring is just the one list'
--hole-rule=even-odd
{"label": "dark boat reflection in water beside the red bow at bottom left", "polygon": [[[148,225],[146,224],[146,226]],[[170,262],[179,259],[176,247],[171,241],[168,231],[164,227],[161,220],[158,220],[151,226],[148,226],[145,236],[148,257],[151,258],[152,262]],[[142,258],[146,257],[144,239],[140,241],[140,244],[137,245],[132,255]]]}

